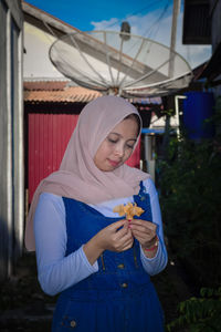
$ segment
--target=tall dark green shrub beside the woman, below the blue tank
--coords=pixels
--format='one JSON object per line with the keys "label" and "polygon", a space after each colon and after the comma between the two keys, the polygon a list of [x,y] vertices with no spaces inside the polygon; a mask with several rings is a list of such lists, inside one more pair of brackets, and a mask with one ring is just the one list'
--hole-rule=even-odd
{"label": "tall dark green shrub beside the woman, below the blue tank", "polygon": [[[220,101],[219,101],[220,102]],[[221,105],[217,103],[217,127]],[[199,286],[221,281],[221,135],[194,143],[171,138],[167,160],[158,160],[165,232],[175,258]]]}

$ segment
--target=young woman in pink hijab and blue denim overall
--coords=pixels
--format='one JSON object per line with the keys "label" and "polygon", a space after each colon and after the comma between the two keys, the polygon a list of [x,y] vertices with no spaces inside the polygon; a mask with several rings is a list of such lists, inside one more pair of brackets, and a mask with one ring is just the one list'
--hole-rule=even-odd
{"label": "young woman in pink hijab and blue denim overall", "polygon": [[[167,264],[158,196],[148,174],[125,165],[140,127],[122,97],[88,103],[60,170],[35,191],[25,243],[36,251],[43,291],[61,293],[53,332],[164,331],[150,282]],[[135,203],[139,217],[114,212]]]}

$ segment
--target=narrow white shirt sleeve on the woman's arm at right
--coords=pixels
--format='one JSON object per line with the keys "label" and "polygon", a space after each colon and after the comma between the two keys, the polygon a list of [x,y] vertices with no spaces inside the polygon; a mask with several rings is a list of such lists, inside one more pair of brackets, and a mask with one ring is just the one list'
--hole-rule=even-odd
{"label": "narrow white shirt sleeve on the woman's arm at right", "polygon": [[161,220],[161,211],[159,206],[158,193],[156,190],[154,181],[150,178],[144,181],[144,186],[150,196],[152,222],[157,225],[159,246],[157,249],[157,253],[154,258],[147,258],[140,246],[140,259],[146,272],[150,276],[154,276],[159,273],[166,268],[168,256],[167,256],[167,249],[164,240],[162,220]]}

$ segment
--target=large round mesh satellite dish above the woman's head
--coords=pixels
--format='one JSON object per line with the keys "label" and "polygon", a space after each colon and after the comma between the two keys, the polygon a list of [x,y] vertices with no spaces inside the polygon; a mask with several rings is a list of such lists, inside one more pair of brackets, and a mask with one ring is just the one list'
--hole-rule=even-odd
{"label": "large round mesh satellite dish above the woman's head", "polygon": [[181,55],[123,31],[65,34],[52,44],[49,54],[63,75],[104,94],[160,96],[188,86],[192,77]]}

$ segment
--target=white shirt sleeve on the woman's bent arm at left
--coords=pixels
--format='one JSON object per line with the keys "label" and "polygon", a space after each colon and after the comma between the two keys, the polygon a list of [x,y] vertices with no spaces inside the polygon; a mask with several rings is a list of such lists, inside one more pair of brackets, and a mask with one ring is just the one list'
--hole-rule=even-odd
{"label": "white shirt sleeve on the woman's bent arm at left", "polygon": [[66,225],[62,197],[49,193],[40,196],[34,236],[38,278],[45,293],[55,295],[98,270],[97,261],[92,266],[83,247],[65,257]]}

